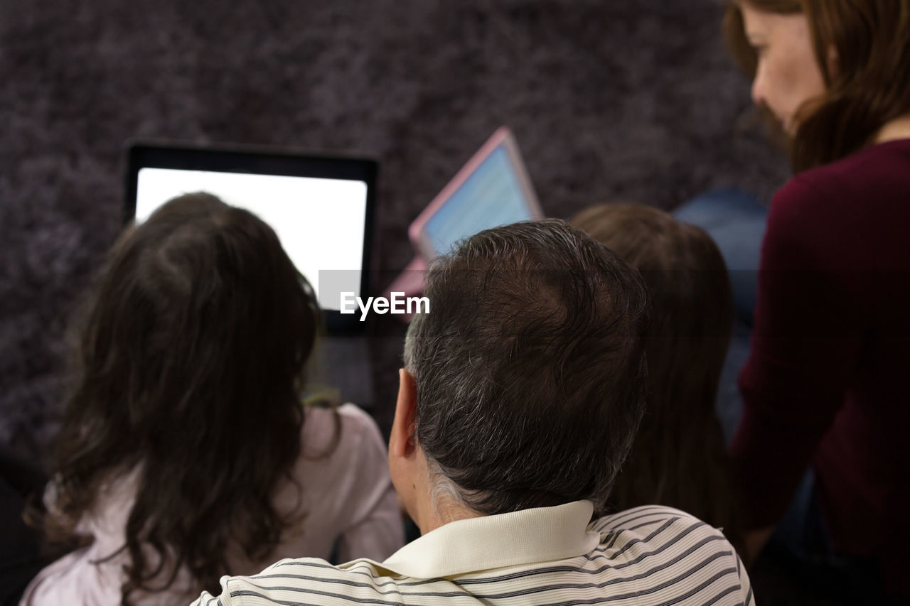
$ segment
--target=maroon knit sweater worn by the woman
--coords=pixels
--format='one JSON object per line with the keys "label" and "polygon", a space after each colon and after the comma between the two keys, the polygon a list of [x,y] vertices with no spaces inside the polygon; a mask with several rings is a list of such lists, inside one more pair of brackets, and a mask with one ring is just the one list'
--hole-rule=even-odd
{"label": "maroon knit sweater worn by the woman", "polygon": [[774,197],[732,456],[747,527],[814,466],[834,549],[910,596],[910,139],[806,171]]}

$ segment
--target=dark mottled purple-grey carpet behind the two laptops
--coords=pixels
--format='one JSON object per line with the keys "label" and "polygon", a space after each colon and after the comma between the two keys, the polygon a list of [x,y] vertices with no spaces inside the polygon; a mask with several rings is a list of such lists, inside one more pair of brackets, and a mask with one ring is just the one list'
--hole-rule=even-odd
{"label": "dark mottled purple-grey carpet behind the two laptops", "polygon": [[[767,198],[785,163],[720,14],[717,0],[0,0],[0,442],[39,458],[54,435],[66,318],[120,227],[127,137],[378,157],[389,270],[501,124],[555,217],[716,186]],[[374,348],[389,405],[390,334]]]}

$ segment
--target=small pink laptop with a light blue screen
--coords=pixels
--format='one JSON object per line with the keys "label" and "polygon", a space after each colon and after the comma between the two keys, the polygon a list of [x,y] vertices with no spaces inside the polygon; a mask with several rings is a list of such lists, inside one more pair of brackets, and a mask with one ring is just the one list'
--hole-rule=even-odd
{"label": "small pink laptop with a light blue screen", "polygon": [[416,255],[387,294],[419,295],[430,261],[450,252],[461,238],[541,218],[543,211],[515,136],[501,126],[410,224],[408,235]]}

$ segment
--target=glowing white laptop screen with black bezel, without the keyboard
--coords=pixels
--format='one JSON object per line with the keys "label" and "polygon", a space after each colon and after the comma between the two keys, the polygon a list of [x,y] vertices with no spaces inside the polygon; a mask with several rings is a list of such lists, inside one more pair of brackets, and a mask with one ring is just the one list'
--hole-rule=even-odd
{"label": "glowing white laptop screen with black bezel, without the keyboard", "polygon": [[[365,294],[376,164],[370,160],[177,146],[132,146],[126,218],[205,191],[272,227],[339,328],[340,292]],[[355,328],[355,327],[351,327]]]}

